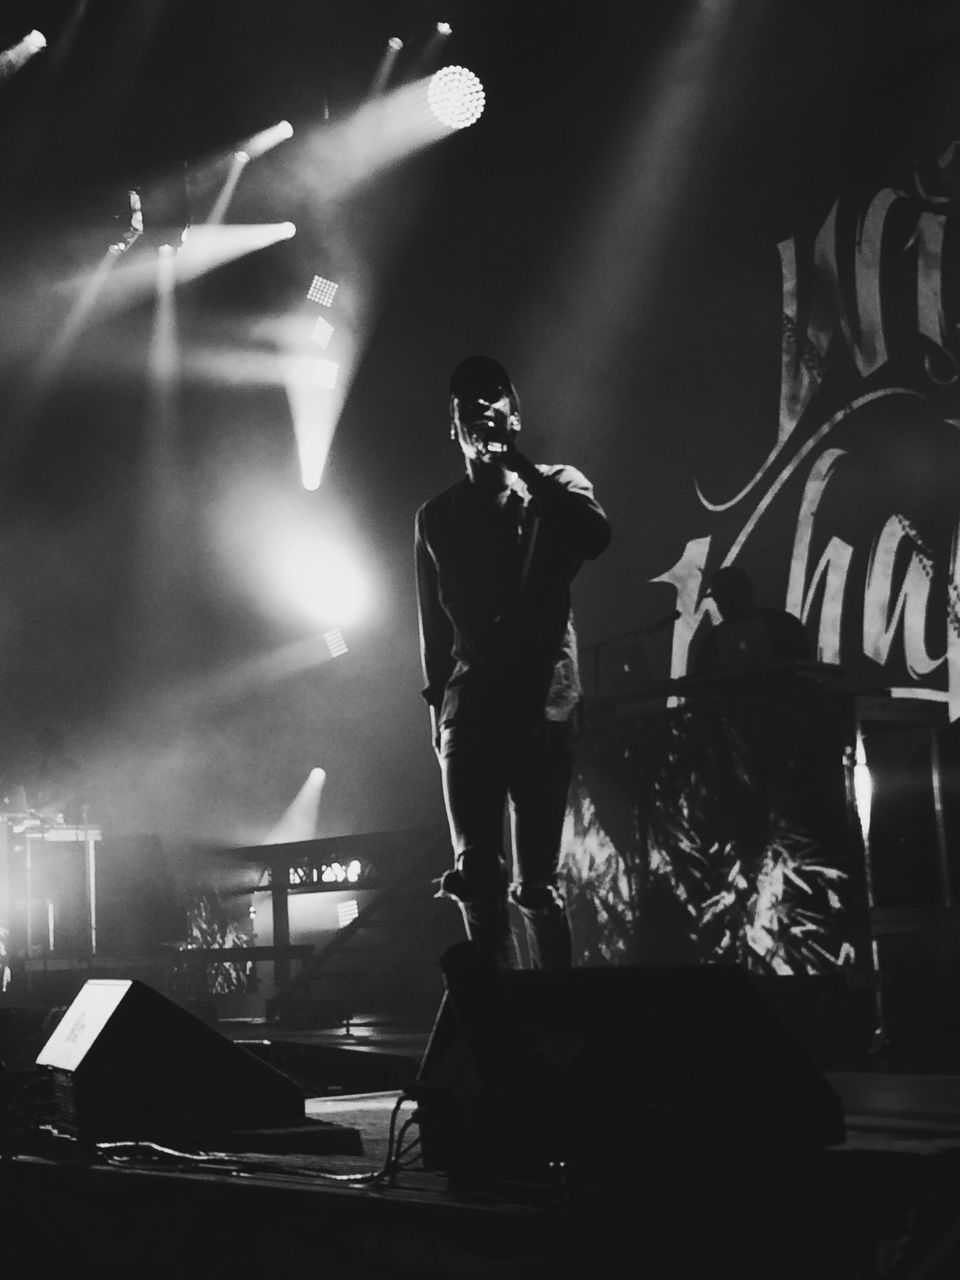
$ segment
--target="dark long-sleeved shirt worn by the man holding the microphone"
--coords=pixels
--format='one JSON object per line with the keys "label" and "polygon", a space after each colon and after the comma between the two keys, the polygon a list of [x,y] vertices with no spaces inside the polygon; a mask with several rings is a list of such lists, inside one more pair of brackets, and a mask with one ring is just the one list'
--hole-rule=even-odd
{"label": "dark long-sleeved shirt worn by the man holding the microphone", "polygon": [[576,467],[499,495],[463,477],[416,515],[424,699],[444,724],[571,719],[582,700],[570,588],[609,544]]}

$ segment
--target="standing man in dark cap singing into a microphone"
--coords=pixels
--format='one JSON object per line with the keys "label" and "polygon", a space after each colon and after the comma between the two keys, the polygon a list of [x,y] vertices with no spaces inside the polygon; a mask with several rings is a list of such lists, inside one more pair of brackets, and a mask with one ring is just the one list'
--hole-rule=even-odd
{"label": "standing man in dark cap singing into a microphone", "polygon": [[609,522],[582,472],[520,453],[520,399],[498,361],[461,361],[449,397],[466,475],[416,515],[422,694],[454,855],[439,893],[516,968],[509,893],[530,964],[568,968],[557,873],[582,703],[570,585]]}

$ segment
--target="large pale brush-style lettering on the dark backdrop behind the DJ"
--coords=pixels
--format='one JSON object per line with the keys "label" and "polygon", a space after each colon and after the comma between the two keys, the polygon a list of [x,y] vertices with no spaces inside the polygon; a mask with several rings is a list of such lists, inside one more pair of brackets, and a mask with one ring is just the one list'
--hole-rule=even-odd
{"label": "large pale brush-style lettering on the dark backdrop behind the DJ", "polygon": [[[901,229],[899,237],[892,234],[895,225]],[[905,396],[929,402],[933,393],[957,381],[960,365],[950,349],[956,326],[945,315],[942,291],[946,234],[942,207],[931,209],[929,201],[887,187],[855,218],[837,200],[805,256],[792,237],[777,246],[782,337],[776,442],[739,493],[716,500],[699,484],[696,492],[704,508],[713,513],[732,511],[753,494],[740,532],[721,557],[726,564],[740,556],[760,518],[782,494],[787,477],[801,466],[809,467],[795,517],[785,607],[815,634],[815,652],[822,662],[840,664],[856,644],[863,657],[882,667],[893,659],[895,652],[902,655],[914,681],[946,666],[946,696],[950,717],[955,719],[960,716],[960,524],[948,571],[943,573],[943,566],[936,563],[943,549],[937,553],[925,545],[922,531],[908,516],[891,511],[872,535],[869,547],[863,547],[860,599],[854,598],[850,581],[856,547],[819,527],[823,495],[833,481],[837,462],[846,456],[845,449],[828,439],[841,424],[874,398]],[[890,280],[900,285],[893,294],[901,301],[911,296],[913,306],[891,307]],[[909,325],[904,321],[905,312],[910,316]],[[891,379],[900,380],[900,385],[877,387],[893,356],[918,337],[923,339],[923,360],[901,360]],[[818,393],[831,361],[842,358],[842,352],[850,357],[854,376],[860,381],[870,378],[874,387],[851,396],[828,420],[804,431],[806,439],[800,440],[799,429],[806,428],[817,412]],[[913,385],[902,384],[905,369],[910,370],[908,381]],[[756,492],[760,485],[763,493]],[[671,584],[677,593],[680,618],[673,631],[672,676],[685,673],[695,632],[704,617],[714,616],[713,607],[701,602],[703,575],[713,558],[713,541],[714,535],[691,539],[680,561],[653,579]],[[822,550],[813,563],[815,547]],[[934,591],[934,582],[945,580],[946,600],[940,589]],[[851,614],[860,603],[863,626],[854,637]],[[929,639],[938,631],[945,643],[931,653]]]}

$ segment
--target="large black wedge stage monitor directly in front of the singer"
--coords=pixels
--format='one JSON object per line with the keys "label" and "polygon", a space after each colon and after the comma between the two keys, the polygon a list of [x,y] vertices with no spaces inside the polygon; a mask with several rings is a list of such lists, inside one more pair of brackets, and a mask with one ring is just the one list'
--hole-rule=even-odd
{"label": "large black wedge stage monitor directly in front of the singer", "polygon": [[840,1096],[742,969],[495,970],[470,942],[440,966],[410,1091],[428,1169],[663,1171],[845,1138]]}

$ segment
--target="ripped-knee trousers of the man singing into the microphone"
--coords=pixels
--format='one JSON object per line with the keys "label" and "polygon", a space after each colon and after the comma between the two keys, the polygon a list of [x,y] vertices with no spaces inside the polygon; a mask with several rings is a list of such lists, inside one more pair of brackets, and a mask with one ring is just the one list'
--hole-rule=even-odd
{"label": "ripped-knee trousers of the man singing into the microphone", "polygon": [[467,936],[498,965],[515,968],[509,896],[524,920],[531,966],[568,968],[570,923],[557,873],[573,772],[572,724],[447,724],[439,759],[454,855],[443,891],[458,900]]}

